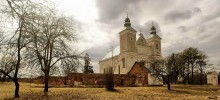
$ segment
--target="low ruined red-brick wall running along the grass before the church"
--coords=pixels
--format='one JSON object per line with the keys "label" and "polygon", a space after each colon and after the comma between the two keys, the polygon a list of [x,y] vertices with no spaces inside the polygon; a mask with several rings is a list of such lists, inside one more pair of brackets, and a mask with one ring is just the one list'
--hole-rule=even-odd
{"label": "low ruined red-brick wall running along the grass before the church", "polygon": [[[115,86],[135,86],[136,76],[126,74],[114,74]],[[105,74],[71,73],[67,77],[51,76],[49,85],[90,86],[104,87]],[[44,84],[44,77],[33,79],[33,83]]]}

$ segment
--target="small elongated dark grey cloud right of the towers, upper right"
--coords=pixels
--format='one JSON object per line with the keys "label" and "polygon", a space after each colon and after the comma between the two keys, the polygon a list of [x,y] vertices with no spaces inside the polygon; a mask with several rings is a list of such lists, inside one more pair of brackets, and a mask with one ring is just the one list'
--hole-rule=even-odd
{"label": "small elongated dark grey cloud right of the towers, upper right", "polygon": [[167,13],[164,18],[166,22],[178,22],[190,19],[193,15],[199,12],[201,12],[201,9],[198,7],[194,7],[190,10],[175,10]]}

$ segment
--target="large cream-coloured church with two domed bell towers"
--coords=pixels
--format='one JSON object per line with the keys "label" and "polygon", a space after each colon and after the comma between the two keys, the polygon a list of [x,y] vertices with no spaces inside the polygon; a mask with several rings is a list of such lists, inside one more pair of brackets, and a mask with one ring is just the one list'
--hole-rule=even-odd
{"label": "large cream-coloured church with two domed bell towers", "polygon": [[[145,38],[142,33],[136,37],[137,31],[131,26],[130,19],[125,19],[124,28],[119,32],[120,44],[99,61],[100,73],[113,66],[114,74],[127,74],[136,61],[150,61],[151,57],[162,58],[161,38],[152,25],[150,35]],[[149,63],[145,63],[149,67]]]}

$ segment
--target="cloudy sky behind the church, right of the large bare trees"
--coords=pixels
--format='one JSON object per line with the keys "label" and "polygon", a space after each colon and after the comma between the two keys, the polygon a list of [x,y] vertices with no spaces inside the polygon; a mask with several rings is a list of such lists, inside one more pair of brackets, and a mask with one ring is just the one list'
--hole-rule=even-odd
{"label": "cloudy sky behind the church, right of the large bare trees", "polygon": [[[98,62],[119,45],[119,32],[128,16],[138,32],[149,35],[156,26],[162,55],[195,47],[220,66],[220,0],[53,0],[76,24],[74,48],[89,53],[95,72]],[[220,67],[219,67],[220,68]]]}

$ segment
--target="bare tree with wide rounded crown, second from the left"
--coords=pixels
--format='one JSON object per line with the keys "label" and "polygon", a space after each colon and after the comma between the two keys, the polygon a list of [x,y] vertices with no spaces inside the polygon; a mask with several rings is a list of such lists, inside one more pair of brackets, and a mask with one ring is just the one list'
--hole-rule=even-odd
{"label": "bare tree with wide rounded crown, second from the left", "polygon": [[77,59],[68,45],[68,42],[75,41],[75,31],[71,18],[59,16],[52,9],[37,16],[31,28],[27,28],[32,38],[28,55],[35,66],[40,66],[43,71],[44,91],[48,92],[51,69],[60,63],[73,64],[72,61]]}

